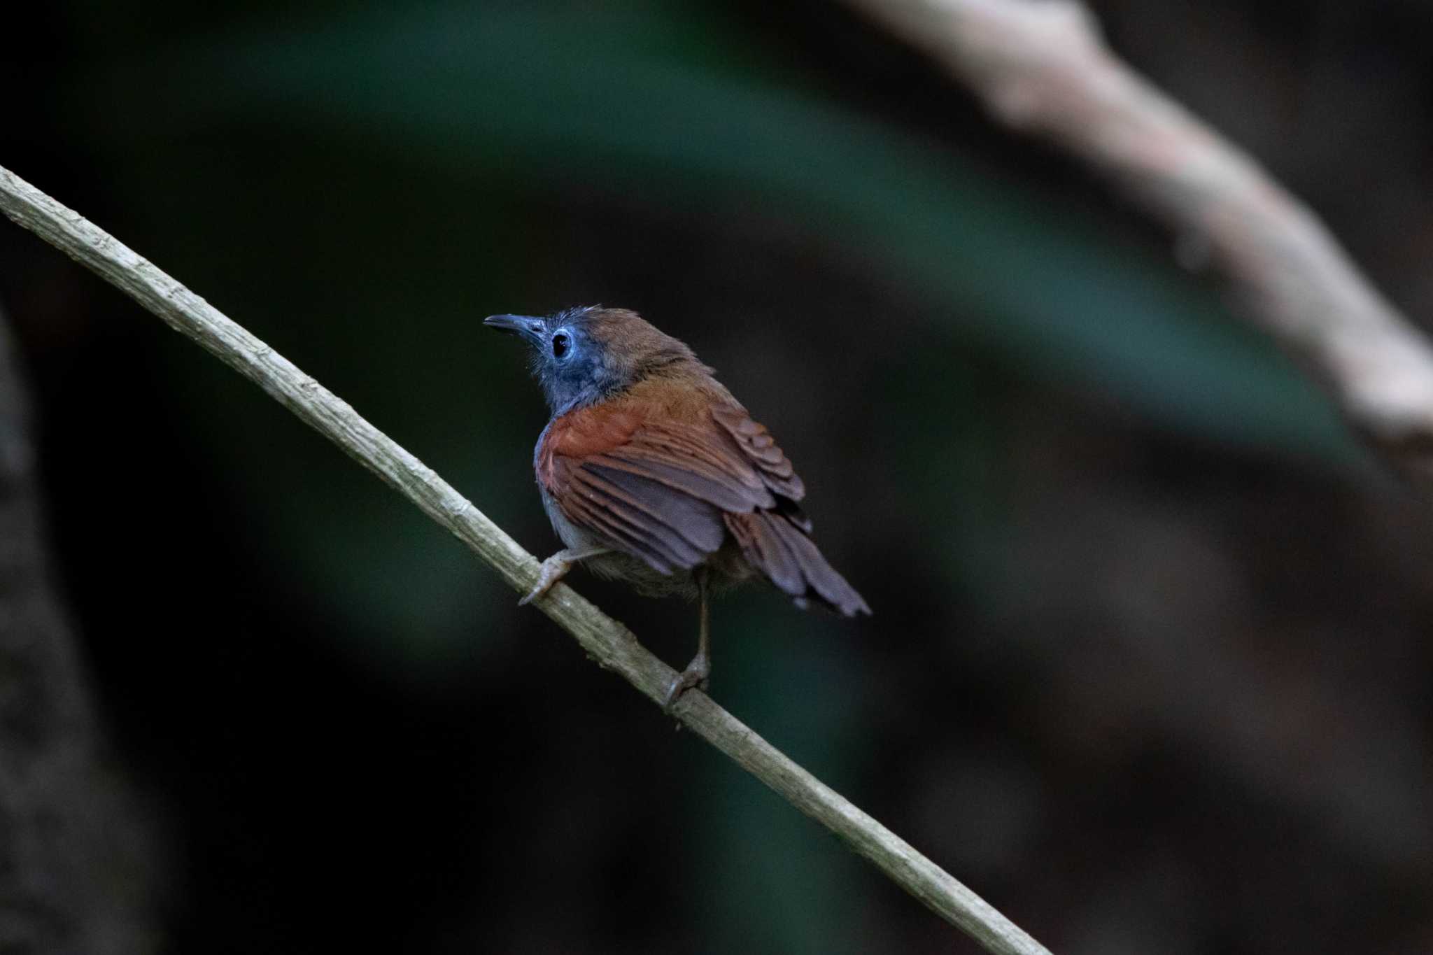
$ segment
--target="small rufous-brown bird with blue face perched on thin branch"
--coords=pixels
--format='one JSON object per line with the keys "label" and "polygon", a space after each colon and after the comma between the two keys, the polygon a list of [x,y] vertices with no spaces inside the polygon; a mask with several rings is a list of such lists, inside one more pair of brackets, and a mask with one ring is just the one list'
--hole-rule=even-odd
{"label": "small rufous-brown bird with blue face perched on thin branch", "polygon": [[791,461],[686,344],[602,305],[483,324],[529,345],[552,412],[533,470],[563,548],[519,603],[579,563],[642,594],[695,597],[696,656],[671,682],[668,712],[709,689],[716,588],[765,578],[802,609],[871,613],[813,543]]}

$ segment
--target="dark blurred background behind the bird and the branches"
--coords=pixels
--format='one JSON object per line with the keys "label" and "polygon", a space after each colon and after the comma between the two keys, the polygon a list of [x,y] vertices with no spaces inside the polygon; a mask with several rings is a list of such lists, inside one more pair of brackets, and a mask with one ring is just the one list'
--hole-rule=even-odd
{"label": "dark blurred background behind the bird and the branches", "polygon": [[[1093,7],[1433,316],[1433,3]],[[714,694],[1055,951],[1433,951],[1429,514],[1171,236],[841,4],[17,16],[0,163],[535,553],[546,415],[481,316],[692,344],[876,609],[725,598]],[[0,305],[160,951],[976,951],[9,223]],[[689,656],[691,607],[573,583]]]}

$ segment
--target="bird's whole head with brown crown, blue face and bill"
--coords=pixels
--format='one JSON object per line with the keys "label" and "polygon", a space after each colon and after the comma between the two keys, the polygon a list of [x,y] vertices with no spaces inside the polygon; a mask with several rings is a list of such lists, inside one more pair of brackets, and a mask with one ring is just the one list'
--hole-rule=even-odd
{"label": "bird's whole head with brown crown, blue face and bill", "polygon": [[595,404],[651,374],[695,365],[692,349],[625,308],[569,308],[547,316],[489,315],[489,328],[532,348],[533,375],[553,414]]}

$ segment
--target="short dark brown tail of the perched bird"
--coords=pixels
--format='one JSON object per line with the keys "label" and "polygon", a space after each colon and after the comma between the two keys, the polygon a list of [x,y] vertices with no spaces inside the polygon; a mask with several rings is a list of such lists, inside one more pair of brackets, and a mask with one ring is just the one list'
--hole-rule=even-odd
{"label": "short dark brown tail of the perched bird", "polygon": [[861,594],[825,561],[811,538],[784,514],[725,514],[727,527],[747,561],[797,604],[815,598],[847,617],[870,614]]}

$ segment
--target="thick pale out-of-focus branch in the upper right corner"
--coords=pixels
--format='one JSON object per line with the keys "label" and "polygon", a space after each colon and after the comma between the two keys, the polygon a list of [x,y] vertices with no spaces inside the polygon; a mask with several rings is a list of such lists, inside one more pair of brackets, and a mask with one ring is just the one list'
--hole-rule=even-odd
{"label": "thick pale out-of-focus branch in the upper right corner", "polygon": [[[995,117],[1048,140],[1172,228],[1181,258],[1333,392],[1433,494],[1433,349],[1324,225],[1252,159],[1138,76],[1072,0],[845,0],[920,47]],[[1151,321],[1158,321],[1152,316]]]}

